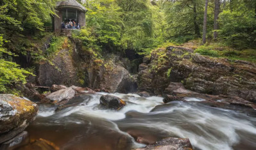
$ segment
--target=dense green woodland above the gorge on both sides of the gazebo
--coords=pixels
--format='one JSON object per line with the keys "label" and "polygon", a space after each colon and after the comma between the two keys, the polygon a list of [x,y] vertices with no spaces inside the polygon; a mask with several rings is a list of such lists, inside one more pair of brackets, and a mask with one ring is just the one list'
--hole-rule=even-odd
{"label": "dense green woodland above the gorge on both sides of the gazebo", "polygon": [[[26,82],[33,70],[15,58],[47,59],[35,47],[49,34],[44,27],[51,26],[57,1],[0,1],[1,93],[8,92],[6,85]],[[192,41],[199,45],[200,54],[256,60],[255,0],[87,0],[83,5],[88,10],[87,24],[73,36],[87,50],[124,53],[130,49],[146,55],[157,47]],[[49,53],[62,40],[55,35]]]}

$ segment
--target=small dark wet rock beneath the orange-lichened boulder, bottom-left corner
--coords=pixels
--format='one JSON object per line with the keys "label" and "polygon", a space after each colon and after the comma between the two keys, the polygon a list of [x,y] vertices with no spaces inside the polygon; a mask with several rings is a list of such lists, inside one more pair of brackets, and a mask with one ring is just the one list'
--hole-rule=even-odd
{"label": "small dark wet rock beneath the orange-lichened boulder, bottom-left corner", "polygon": [[21,146],[21,144],[22,145],[28,144],[29,142],[30,141],[28,139],[28,132],[22,131],[21,133],[19,133],[15,137],[13,137],[13,139],[8,140],[8,141],[4,142],[3,144],[1,144],[0,149],[15,149],[15,148]]}

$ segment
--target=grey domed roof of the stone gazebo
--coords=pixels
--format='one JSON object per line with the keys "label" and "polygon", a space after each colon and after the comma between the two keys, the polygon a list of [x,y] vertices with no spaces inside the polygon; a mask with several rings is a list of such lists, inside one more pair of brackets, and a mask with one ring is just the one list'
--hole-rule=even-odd
{"label": "grey domed roof of the stone gazebo", "polygon": [[59,1],[56,4],[57,8],[76,8],[81,11],[87,11],[83,5],[78,3],[76,0],[65,0],[65,1]]}

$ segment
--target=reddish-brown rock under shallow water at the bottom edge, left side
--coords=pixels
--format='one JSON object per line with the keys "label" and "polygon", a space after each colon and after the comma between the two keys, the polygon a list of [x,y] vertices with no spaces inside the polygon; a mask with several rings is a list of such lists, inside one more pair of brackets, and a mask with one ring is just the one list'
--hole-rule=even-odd
{"label": "reddish-brown rock under shallow water at the bottom edge, left side", "polygon": [[38,139],[26,146],[22,146],[18,148],[19,150],[59,150],[60,147],[56,146],[53,142],[45,139]]}

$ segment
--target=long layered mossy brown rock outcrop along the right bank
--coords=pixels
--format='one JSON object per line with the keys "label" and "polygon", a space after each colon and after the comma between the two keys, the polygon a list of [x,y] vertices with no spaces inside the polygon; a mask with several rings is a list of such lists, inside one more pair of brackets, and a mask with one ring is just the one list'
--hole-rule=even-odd
{"label": "long layered mossy brown rock outcrop along the right bank", "polygon": [[256,101],[255,64],[201,56],[182,47],[154,50],[139,66],[139,91],[162,94],[170,82],[182,82],[197,93]]}

